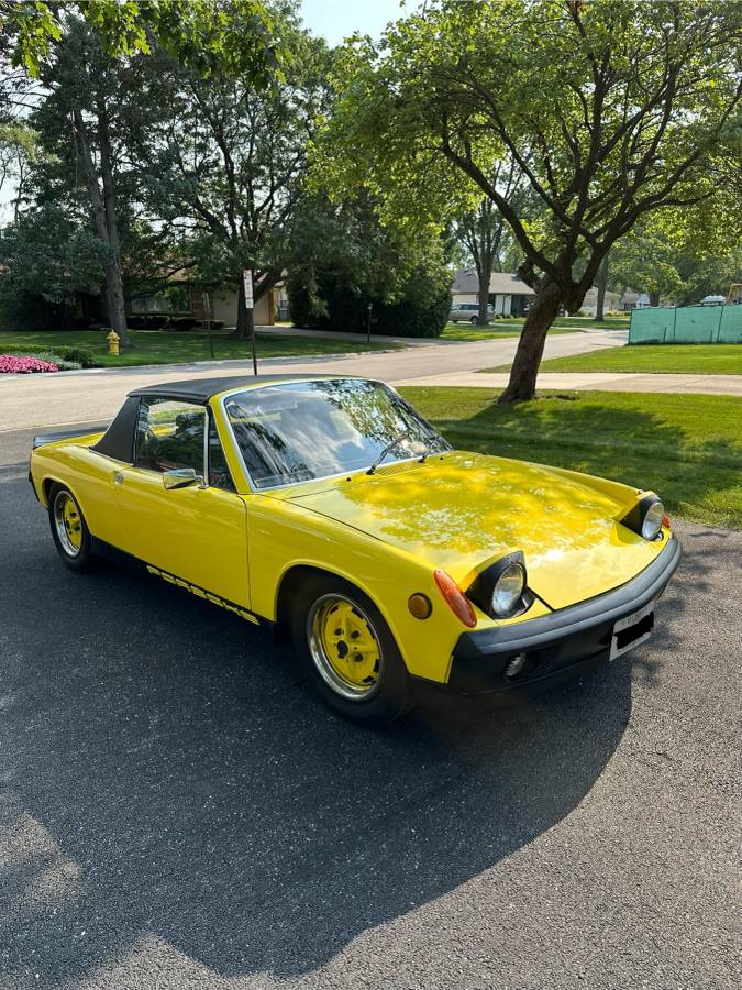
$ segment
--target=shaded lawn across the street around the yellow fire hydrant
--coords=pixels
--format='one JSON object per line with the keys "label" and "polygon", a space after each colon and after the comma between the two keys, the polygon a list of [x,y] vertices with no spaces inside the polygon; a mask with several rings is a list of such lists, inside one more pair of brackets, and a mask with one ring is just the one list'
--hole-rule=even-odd
{"label": "shaded lawn across the street around the yellow fire hydrant", "polygon": [[[209,361],[209,340],[200,332],[167,332],[165,330],[132,330],[134,346],[122,351],[120,358],[110,358],[104,330],[70,331],[18,331],[0,332],[0,354],[20,354],[29,351],[54,351],[55,348],[86,348],[92,351],[98,364],[106,367],[126,367],[137,364],[176,364],[186,361]],[[250,341],[230,340],[225,333],[212,334],[214,358],[251,358]],[[394,344],[329,340],[323,337],[288,337],[280,331],[259,332],[258,358],[284,358],[309,354],[359,353],[388,350]]]}

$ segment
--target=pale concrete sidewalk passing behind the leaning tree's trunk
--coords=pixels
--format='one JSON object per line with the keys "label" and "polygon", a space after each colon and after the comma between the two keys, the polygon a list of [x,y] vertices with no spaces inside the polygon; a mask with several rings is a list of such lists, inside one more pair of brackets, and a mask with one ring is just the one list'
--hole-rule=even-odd
{"label": "pale concrete sidewalk passing behind the leaning tree's trunk", "polygon": [[[459,388],[505,388],[508,374],[461,372],[396,382],[397,385],[445,385]],[[568,392],[654,392],[688,395],[740,395],[742,375],[647,375],[542,372],[538,387]]]}

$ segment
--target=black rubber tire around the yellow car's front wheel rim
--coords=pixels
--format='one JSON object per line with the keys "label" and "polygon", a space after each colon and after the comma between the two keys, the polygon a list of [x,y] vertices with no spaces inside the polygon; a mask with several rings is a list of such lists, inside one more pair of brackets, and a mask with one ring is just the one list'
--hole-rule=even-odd
{"label": "black rubber tire around the yellow car's front wheel rim", "polygon": [[[339,683],[334,684],[333,671],[318,659],[318,642],[312,628],[321,608],[332,612],[333,598],[341,600],[343,606],[347,604],[357,618],[362,617],[379,647],[378,673],[368,689],[352,689],[336,674],[334,680]],[[410,676],[391,630],[374,603],[347,581],[332,574],[309,579],[294,602],[291,632],[304,676],[324,704],[343,718],[367,726],[383,726],[413,707]],[[320,652],[325,656],[321,646]],[[354,692],[355,697],[347,696]]]}

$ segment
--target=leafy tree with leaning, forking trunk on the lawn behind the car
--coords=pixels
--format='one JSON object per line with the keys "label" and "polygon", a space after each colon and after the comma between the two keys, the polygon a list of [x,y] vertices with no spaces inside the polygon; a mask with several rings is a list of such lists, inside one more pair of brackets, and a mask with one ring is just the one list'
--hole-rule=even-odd
{"label": "leafy tree with leaning, forking trunk on the lawn behind the car", "polygon": [[[443,158],[502,213],[536,287],[509,385],[529,399],[560,307],[576,312],[610,250],[643,217],[710,198],[708,163],[739,123],[739,2],[434,2],[336,74],[325,158],[348,186],[395,197]],[[539,204],[491,182],[506,161]]]}

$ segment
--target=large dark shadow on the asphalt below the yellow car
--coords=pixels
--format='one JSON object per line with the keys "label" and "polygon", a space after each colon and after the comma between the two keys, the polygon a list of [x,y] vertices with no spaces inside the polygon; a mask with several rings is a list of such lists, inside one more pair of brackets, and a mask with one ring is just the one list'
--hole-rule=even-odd
{"label": "large dark shadow on the asphalt below the yellow car", "polygon": [[69,573],[40,537],[15,564],[8,974],[69,980],[145,934],[223,975],[312,970],[568,815],[630,717],[622,658],[519,707],[372,733],[314,702],[266,632],[155,579]]}

